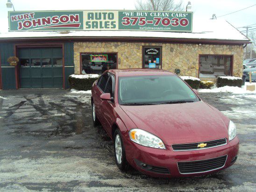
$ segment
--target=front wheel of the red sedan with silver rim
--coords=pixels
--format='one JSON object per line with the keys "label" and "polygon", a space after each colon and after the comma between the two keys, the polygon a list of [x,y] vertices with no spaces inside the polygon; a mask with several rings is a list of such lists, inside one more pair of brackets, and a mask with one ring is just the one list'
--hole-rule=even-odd
{"label": "front wheel of the red sedan with silver rim", "polygon": [[[121,154],[121,156],[120,156]],[[128,162],[125,156],[125,149],[122,142],[122,137],[119,129],[114,132],[114,157],[115,163],[121,171],[128,170]]]}

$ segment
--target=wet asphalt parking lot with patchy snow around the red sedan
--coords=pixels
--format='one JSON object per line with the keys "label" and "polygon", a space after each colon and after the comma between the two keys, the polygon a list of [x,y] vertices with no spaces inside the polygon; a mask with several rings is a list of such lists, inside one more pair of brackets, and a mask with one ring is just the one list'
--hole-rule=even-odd
{"label": "wet asphalt parking lot with patchy snow around the red sedan", "polygon": [[256,96],[200,97],[236,123],[238,159],[212,175],[166,179],[119,171],[113,143],[92,127],[90,94],[0,91],[0,191],[256,191]]}

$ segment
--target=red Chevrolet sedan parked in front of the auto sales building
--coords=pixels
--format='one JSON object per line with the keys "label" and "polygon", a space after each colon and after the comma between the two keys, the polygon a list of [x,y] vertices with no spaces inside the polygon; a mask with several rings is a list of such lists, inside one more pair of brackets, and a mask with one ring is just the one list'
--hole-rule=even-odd
{"label": "red Chevrolet sedan parked in front of the auto sales building", "polygon": [[122,171],[197,176],[237,158],[235,124],[169,71],[106,71],[92,87],[92,120],[113,139]]}

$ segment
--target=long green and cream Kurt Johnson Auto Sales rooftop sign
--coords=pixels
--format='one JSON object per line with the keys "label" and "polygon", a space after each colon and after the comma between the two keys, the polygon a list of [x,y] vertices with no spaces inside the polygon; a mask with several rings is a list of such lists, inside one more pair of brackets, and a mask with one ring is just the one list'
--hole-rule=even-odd
{"label": "long green and cream Kurt Johnson Auto Sales rooftop sign", "polygon": [[9,31],[141,30],[192,31],[192,12],[10,11]]}

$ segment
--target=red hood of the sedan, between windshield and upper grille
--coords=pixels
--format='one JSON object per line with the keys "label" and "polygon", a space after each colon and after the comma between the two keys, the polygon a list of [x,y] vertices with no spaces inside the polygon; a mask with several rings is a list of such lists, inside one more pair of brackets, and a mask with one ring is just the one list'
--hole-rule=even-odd
{"label": "red hood of the sedan, between windshield and upper grille", "polygon": [[228,138],[228,118],[203,101],[121,108],[137,128],[158,136],[165,145]]}

